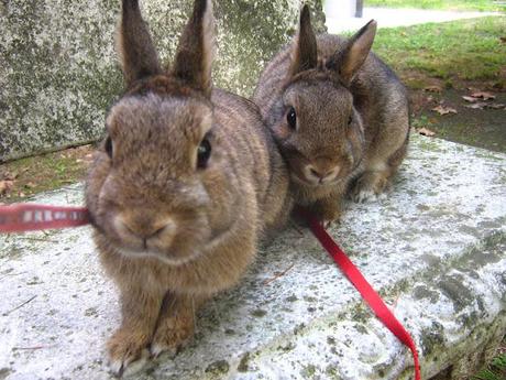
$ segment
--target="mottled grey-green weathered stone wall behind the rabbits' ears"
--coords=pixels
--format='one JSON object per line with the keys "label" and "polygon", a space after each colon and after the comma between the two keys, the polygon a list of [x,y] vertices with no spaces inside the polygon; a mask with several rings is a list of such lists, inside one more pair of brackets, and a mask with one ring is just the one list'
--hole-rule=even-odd
{"label": "mottled grey-green weathered stone wall behind the rabbits' ears", "polygon": [[[321,0],[311,4],[323,31]],[[176,48],[193,0],[141,1],[162,59]],[[296,30],[301,0],[215,1],[215,83],[248,96]],[[0,162],[97,140],[121,94],[114,52],[120,0],[0,1]]]}

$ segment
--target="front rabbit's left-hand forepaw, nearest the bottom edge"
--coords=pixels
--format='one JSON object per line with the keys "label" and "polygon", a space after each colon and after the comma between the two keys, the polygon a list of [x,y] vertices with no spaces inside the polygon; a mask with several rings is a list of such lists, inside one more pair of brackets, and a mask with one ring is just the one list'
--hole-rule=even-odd
{"label": "front rabbit's left-hand forepaw, nearest the bottom edge", "polygon": [[142,332],[128,328],[118,329],[109,339],[109,368],[114,376],[134,373],[147,362],[148,337]]}

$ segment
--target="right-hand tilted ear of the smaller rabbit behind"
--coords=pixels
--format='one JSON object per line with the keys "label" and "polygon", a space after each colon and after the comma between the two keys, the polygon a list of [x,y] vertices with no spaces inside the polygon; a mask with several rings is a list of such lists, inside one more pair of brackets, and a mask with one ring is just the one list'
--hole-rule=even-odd
{"label": "right-hand tilted ear of the smaller rabbit behind", "polygon": [[348,41],[342,51],[336,53],[327,62],[327,67],[337,70],[341,79],[350,84],[365,62],[375,35],[376,21],[371,20]]}

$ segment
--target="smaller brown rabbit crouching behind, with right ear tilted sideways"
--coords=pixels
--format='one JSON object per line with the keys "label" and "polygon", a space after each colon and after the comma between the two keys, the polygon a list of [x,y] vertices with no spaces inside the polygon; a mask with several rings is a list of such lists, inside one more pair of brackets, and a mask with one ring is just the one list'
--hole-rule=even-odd
{"label": "smaller brown rabbit crouching behind, with right ear tilted sideways", "polygon": [[289,164],[296,203],[324,221],[356,202],[383,196],[406,154],[406,90],[371,50],[376,22],[346,40],[316,36],[309,8],[294,44],[264,69],[254,94]]}

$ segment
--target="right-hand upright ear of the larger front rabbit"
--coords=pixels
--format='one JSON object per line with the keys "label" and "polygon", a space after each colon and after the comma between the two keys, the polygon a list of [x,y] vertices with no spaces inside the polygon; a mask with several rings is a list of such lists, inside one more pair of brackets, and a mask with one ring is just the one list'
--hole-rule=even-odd
{"label": "right-hand upright ear of the larger front rabbit", "polygon": [[215,18],[211,0],[195,0],[194,13],[179,40],[173,74],[190,87],[211,93]]}

